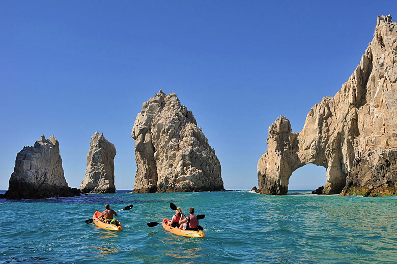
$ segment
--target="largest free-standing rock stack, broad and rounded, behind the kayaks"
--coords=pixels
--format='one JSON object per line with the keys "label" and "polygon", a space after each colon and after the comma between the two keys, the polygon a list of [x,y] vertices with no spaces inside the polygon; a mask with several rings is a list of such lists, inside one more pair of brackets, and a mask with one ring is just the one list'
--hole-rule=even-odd
{"label": "largest free-standing rock stack, broad and rounded, behind the kayaks", "polygon": [[215,150],[175,93],[160,90],[145,102],[131,136],[137,167],[133,192],[223,189]]}

